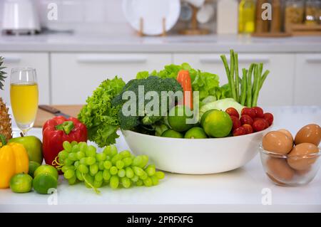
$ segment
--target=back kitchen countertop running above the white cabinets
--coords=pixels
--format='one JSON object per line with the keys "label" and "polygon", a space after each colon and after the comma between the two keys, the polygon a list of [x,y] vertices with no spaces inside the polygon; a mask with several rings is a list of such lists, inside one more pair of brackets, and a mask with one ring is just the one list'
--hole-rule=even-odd
{"label": "back kitchen countertop running above the white cabinets", "polygon": [[320,36],[252,38],[237,35],[139,37],[99,33],[0,36],[0,51],[113,53],[320,53]]}

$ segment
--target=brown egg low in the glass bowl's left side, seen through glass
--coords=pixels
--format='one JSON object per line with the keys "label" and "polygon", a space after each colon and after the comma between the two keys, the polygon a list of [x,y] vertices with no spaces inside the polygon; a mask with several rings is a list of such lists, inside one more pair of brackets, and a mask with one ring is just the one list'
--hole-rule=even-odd
{"label": "brown egg low in the glass bowl's left side, seen through glass", "polygon": [[[295,171],[282,158],[270,157],[266,162],[267,174],[272,176],[272,180],[279,183],[290,181],[293,178]],[[280,183],[279,183],[280,184]]]}

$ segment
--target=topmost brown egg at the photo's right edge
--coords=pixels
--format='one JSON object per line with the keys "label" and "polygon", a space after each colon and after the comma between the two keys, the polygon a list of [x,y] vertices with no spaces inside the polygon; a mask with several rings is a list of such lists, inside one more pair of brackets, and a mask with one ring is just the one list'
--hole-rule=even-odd
{"label": "topmost brown egg at the photo's right edge", "polygon": [[319,125],[310,124],[302,127],[295,136],[295,144],[302,144],[303,142],[310,142],[319,146],[321,141],[321,128]]}

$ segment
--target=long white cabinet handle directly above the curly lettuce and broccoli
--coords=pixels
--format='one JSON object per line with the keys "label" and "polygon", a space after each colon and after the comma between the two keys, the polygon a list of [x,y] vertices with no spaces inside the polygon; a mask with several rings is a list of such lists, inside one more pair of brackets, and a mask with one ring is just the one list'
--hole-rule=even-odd
{"label": "long white cabinet handle directly above the curly lettuce and broccoli", "polygon": [[78,63],[146,63],[146,56],[79,55]]}

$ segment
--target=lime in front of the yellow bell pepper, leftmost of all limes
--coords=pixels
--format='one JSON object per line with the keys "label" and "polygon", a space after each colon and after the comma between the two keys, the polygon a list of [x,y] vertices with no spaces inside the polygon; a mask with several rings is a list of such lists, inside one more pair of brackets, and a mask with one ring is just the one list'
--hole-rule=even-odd
{"label": "lime in front of the yellow bell pepper, leftmost of all limes", "polygon": [[16,174],[10,179],[10,188],[17,193],[29,192],[32,189],[32,177],[29,174]]}

